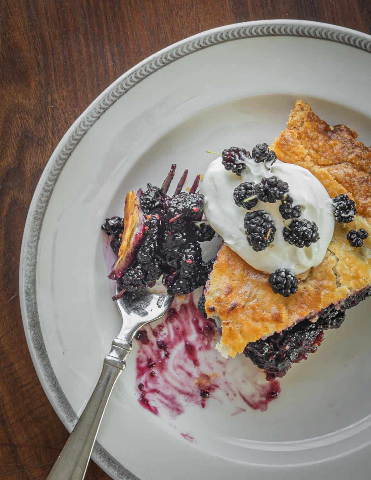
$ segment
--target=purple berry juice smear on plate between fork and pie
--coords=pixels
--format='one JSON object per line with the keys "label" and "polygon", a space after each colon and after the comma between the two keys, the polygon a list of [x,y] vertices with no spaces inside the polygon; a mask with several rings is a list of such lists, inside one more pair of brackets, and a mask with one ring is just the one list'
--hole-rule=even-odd
{"label": "purple berry juice smear on plate between fork and pie", "polygon": [[212,402],[231,404],[232,416],[244,413],[246,406],[266,410],[279,395],[278,381],[266,381],[246,358],[221,357],[214,322],[203,318],[192,295],[174,305],[160,324],[136,336],[135,388],[142,407],[171,418],[187,405],[213,408]]}

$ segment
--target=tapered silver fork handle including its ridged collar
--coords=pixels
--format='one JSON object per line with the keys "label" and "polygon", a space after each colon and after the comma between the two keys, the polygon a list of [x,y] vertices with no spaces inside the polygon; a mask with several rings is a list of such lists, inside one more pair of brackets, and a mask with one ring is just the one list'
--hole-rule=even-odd
{"label": "tapered silver fork handle including its ridged collar", "polygon": [[118,352],[118,347],[112,346],[111,352],[105,358],[94,392],[47,480],[84,479],[109,396],[125,368],[125,358],[130,353],[130,350],[119,350],[122,351]]}

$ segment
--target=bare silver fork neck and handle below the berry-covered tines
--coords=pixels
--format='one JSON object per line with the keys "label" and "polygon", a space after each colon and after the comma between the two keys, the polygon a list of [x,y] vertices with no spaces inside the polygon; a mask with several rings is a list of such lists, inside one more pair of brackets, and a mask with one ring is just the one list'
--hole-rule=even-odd
{"label": "bare silver fork neck and handle below the berry-covered tines", "polygon": [[[119,293],[118,289],[116,293]],[[125,292],[117,300],[122,316],[120,333],[112,341],[112,349],[104,359],[96,388],[47,480],[84,479],[109,396],[125,368],[125,359],[132,350],[134,335],[144,325],[161,318],[172,301],[173,297],[168,294],[155,293],[149,289],[140,295]]]}

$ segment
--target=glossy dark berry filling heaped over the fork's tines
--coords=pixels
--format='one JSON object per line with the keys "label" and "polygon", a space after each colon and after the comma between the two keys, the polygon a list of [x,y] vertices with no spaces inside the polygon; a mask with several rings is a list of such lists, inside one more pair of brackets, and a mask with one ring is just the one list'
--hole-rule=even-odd
{"label": "glossy dark berry filling heaped over the fork's tines", "polygon": [[[188,294],[203,286],[211,271],[212,263],[203,262],[199,245],[215,235],[207,223],[199,221],[204,205],[203,195],[196,193],[200,176],[194,180],[189,193],[181,192],[186,170],[176,193],[169,197],[166,193],[175,168],[173,165],[161,189],[148,183],[147,191],[139,196],[145,217],[144,235],[135,251],[134,262],[118,279],[122,292],[142,290],[164,275],[170,295]],[[106,219],[102,229],[114,236],[111,246],[117,255],[123,231],[122,219]]]}

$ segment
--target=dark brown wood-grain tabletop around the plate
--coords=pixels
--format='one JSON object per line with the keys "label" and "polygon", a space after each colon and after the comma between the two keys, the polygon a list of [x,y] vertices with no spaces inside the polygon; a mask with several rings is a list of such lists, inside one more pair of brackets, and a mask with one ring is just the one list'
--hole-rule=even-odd
{"label": "dark brown wood-grain tabletop around the plate", "polygon": [[[46,479],[68,433],[24,338],[24,222],[72,122],[134,64],[223,24],[305,19],[371,33],[370,0],[0,0],[0,479]],[[108,476],[91,463],[87,480]]]}

